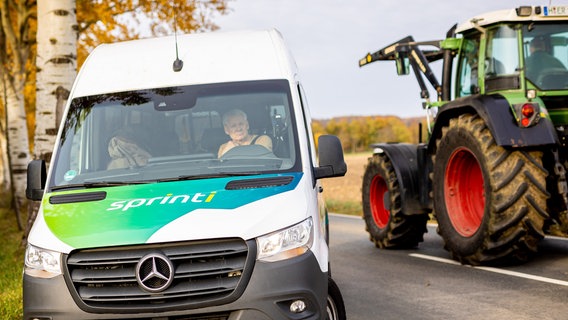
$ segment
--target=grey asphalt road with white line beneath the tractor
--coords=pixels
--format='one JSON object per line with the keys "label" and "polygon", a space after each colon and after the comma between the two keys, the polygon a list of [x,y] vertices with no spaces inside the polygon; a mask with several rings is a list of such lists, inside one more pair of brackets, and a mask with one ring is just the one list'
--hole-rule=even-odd
{"label": "grey asphalt road with white line beneath the tractor", "polygon": [[538,256],[507,268],[463,266],[435,226],[413,250],[379,250],[361,218],[331,215],[332,277],[347,319],[568,319],[568,240],[545,238]]}

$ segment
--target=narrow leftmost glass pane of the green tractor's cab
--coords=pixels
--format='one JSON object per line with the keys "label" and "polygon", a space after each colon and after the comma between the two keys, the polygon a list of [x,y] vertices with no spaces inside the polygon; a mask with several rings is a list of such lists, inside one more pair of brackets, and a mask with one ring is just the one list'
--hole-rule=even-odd
{"label": "narrow leftmost glass pane of the green tractor's cab", "polygon": [[478,48],[479,35],[463,41],[459,61],[459,80],[456,90],[458,97],[479,93],[478,86]]}

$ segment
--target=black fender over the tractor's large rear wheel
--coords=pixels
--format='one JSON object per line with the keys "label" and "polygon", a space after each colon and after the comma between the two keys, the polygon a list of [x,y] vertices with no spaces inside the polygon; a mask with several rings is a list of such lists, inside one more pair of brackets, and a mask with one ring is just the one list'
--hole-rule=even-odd
{"label": "black fender over the tractor's large rear wheel", "polygon": [[503,96],[473,95],[448,102],[440,108],[428,143],[429,150],[435,150],[436,139],[441,135],[442,127],[447,126],[451,118],[463,113],[476,113],[482,117],[495,142],[502,147],[557,145],[559,142],[549,118],[541,117],[536,125],[522,128],[517,124],[509,102]]}

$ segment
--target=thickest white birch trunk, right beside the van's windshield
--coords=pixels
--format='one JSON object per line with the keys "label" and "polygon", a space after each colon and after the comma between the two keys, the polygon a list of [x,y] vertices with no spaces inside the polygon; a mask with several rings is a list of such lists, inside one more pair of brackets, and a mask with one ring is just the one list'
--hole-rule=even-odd
{"label": "thickest white birch trunk, right beside the van's windshield", "polygon": [[37,2],[34,156],[49,163],[77,69],[75,0]]}

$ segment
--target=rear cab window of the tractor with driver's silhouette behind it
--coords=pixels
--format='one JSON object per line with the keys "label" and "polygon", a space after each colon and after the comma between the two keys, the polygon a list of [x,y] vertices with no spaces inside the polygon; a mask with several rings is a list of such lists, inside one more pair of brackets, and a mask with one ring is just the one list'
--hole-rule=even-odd
{"label": "rear cab window of the tractor with driver's silhouette behind it", "polygon": [[542,90],[568,88],[568,24],[523,26],[525,76]]}

